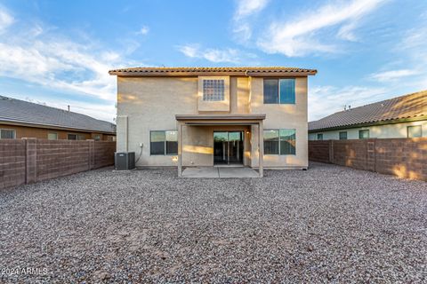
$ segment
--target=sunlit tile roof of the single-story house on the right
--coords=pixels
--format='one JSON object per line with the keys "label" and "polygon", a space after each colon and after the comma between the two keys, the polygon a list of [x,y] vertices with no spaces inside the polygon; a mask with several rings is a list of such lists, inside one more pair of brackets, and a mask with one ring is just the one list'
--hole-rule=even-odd
{"label": "sunlit tile roof of the single-story house on the right", "polygon": [[427,120],[427,91],[386,99],[359,106],[309,122],[309,130],[346,128],[355,124],[375,124],[405,118],[424,117]]}

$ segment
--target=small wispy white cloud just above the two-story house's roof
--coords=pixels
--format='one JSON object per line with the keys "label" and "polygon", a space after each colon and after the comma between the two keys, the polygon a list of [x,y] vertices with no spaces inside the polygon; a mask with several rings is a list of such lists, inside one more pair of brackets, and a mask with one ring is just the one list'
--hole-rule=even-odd
{"label": "small wispy white cloud just above the two-story house's roof", "polygon": [[254,60],[256,55],[252,53],[245,53],[236,49],[214,49],[202,48],[200,44],[186,44],[178,46],[178,50],[185,56],[193,59],[206,59],[208,61],[219,63],[240,63],[243,60]]}

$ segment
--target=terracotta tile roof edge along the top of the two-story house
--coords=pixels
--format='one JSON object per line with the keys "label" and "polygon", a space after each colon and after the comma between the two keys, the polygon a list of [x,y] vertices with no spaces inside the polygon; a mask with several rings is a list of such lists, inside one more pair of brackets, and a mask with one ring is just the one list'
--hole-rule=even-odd
{"label": "terracotta tile roof edge along the top of the two-story house", "polygon": [[133,67],[110,70],[109,75],[315,75],[317,72],[296,67]]}

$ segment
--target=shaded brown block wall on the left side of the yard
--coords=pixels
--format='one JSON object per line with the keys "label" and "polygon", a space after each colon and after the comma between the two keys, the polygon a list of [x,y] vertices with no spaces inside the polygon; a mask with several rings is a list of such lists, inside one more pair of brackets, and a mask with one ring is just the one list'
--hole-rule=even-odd
{"label": "shaded brown block wall on the left side of the yard", "polygon": [[116,142],[0,140],[0,189],[114,164]]}

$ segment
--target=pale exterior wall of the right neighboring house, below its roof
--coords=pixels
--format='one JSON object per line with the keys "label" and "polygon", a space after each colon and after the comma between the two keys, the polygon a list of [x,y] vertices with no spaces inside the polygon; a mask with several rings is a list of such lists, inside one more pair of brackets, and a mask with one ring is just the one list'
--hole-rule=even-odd
{"label": "pale exterior wall of the right neighboring house, below its roof", "polygon": [[341,131],[347,131],[348,139],[359,139],[359,130],[369,130],[370,138],[407,138],[407,126],[411,125],[422,125],[423,137],[427,137],[427,120],[425,120],[351,128],[347,130],[315,132],[310,133],[309,138],[310,140],[317,140],[318,133],[323,133],[324,140],[336,140],[339,139]]}

